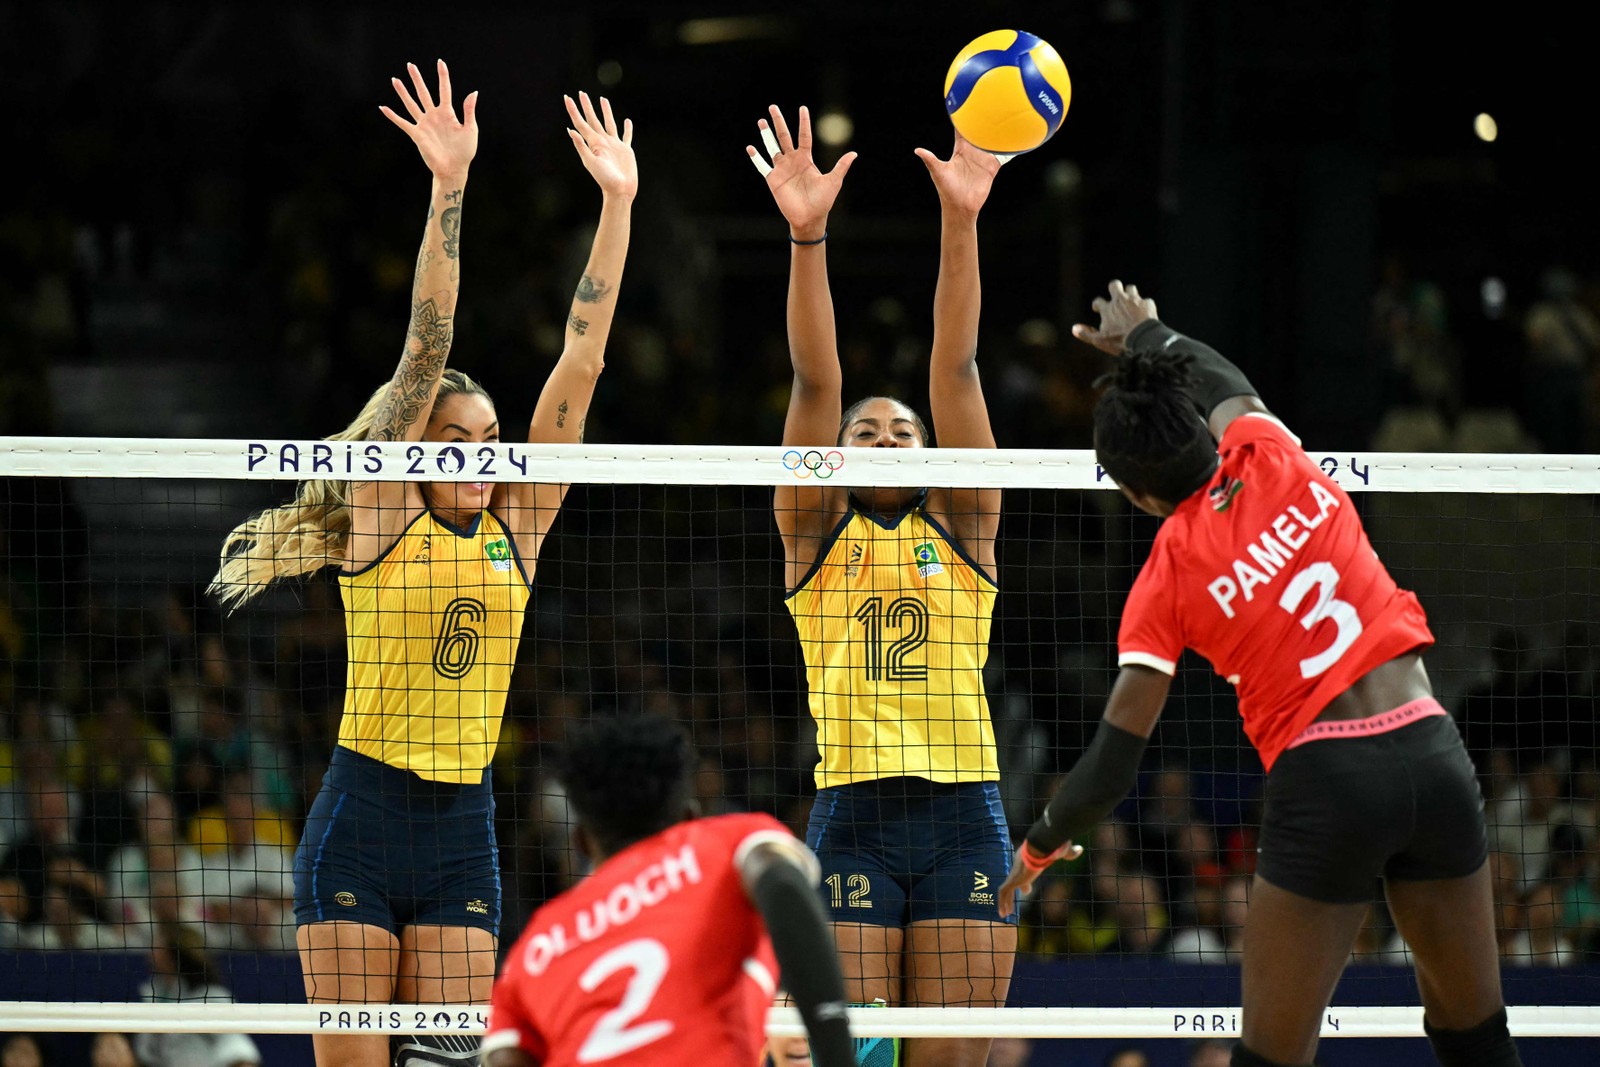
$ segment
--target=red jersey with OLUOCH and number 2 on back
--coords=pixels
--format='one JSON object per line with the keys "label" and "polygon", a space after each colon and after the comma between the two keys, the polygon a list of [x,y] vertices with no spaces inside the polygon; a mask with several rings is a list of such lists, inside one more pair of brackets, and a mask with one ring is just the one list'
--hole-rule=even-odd
{"label": "red jersey with OLUOCH and number 2 on back", "polygon": [[771,816],[680,822],[541,907],[494,982],[483,1051],[755,1067],[778,965],[738,862],[768,840],[805,848]]}

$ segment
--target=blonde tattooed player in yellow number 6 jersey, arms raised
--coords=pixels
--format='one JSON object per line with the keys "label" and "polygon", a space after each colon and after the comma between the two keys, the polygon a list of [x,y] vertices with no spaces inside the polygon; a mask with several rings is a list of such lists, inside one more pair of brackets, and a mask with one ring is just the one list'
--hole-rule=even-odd
{"label": "blonde tattooed player in yellow number 6 jersey, arms raised", "polygon": [[[384,114],[434,173],[394,379],[338,440],[499,440],[488,394],[445,370],[459,293],[461,213],[477,152],[438,64],[438,102],[410,67],[410,115]],[[566,347],[530,442],[578,442],[603,366],[638,189],[632,123],[566,99],[568,131],[603,205],[566,320]],[[298,944],[312,1003],[488,1003],[501,913],[490,760],[528,582],[566,486],[307,483],[235,530],[213,584],[238,605],[277,577],[339,566],[349,680],[339,744],[294,857]],[[322,1067],[384,1067],[386,1037],[314,1038]],[[477,1062],[475,1040],[400,1038],[398,1062]]]}

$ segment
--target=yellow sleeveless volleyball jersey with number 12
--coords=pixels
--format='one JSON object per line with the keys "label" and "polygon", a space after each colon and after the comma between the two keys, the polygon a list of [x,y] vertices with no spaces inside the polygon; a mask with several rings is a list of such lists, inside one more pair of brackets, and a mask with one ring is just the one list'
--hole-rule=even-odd
{"label": "yellow sleeveless volleyball jersey with number 12", "polygon": [[1000,777],[984,696],[995,585],[918,504],[893,525],[854,507],[789,595],[821,789],[882,777]]}

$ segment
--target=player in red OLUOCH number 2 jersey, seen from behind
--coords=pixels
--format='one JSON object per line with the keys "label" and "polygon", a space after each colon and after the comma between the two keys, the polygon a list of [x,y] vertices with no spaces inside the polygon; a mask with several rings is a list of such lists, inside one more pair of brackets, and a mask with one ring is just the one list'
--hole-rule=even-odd
{"label": "player in red OLUOCH number 2 jersey, seen from behind", "polygon": [[816,857],[770,816],[696,819],[693,768],[659,718],[571,731],[557,774],[595,870],[506,957],[486,1067],[755,1067],[778,965],[818,1067],[854,1064]]}

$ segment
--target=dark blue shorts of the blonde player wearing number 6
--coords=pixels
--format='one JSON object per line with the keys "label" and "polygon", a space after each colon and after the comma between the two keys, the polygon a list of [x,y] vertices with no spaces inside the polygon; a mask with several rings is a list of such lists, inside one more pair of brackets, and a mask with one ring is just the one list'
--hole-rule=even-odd
{"label": "dark blue shorts of the blonde player wearing number 6", "polygon": [[499,851],[490,771],[430,782],[333,750],[294,851],[294,921],[477,926],[499,933]]}

